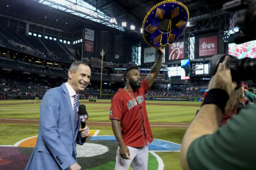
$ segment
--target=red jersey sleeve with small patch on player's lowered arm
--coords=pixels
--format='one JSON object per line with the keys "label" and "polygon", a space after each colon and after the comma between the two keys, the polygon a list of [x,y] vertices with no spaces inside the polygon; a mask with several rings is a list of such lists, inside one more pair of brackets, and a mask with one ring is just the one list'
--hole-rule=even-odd
{"label": "red jersey sleeve with small patch on player's lowered arm", "polygon": [[109,119],[115,119],[115,120],[121,120],[122,113],[123,113],[123,107],[124,107],[124,101],[122,100],[122,97],[119,97],[118,95],[115,95],[113,97],[111,108],[109,111]]}

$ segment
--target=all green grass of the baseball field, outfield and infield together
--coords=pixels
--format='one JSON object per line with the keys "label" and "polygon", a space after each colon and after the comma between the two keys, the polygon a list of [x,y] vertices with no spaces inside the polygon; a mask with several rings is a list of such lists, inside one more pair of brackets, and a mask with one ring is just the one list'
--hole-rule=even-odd
{"label": "all green grass of the baseball field, outfield and infield together", "polygon": [[[0,118],[38,119],[40,104],[34,101],[0,101]],[[99,104],[100,102],[100,104]],[[104,102],[104,103],[102,103]],[[25,103],[25,104],[24,104]],[[109,122],[110,100],[97,100],[96,103],[88,103],[80,100],[86,105],[89,114],[88,121]],[[198,102],[178,101],[146,101],[155,105],[147,105],[148,118],[150,122],[182,122],[189,123],[195,117],[199,108]],[[198,104],[198,106],[162,106],[157,104]],[[5,105],[6,104],[6,105]],[[90,127],[100,130],[98,135],[113,135],[111,127]],[[152,127],[155,139],[163,139],[181,143],[186,129],[169,129]],[[0,145],[13,145],[21,139],[35,136],[38,133],[38,125],[27,124],[0,124]],[[164,162],[164,169],[181,169],[179,165],[179,152],[156,152]]]}

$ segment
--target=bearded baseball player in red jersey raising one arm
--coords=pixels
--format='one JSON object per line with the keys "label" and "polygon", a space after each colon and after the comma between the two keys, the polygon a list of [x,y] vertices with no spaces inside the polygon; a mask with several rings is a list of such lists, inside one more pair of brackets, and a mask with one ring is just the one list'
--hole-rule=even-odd
{"label": "bearded baseball player in red jersey raising one arm", "polygon": [[153,135],[148,122],[145,92],[152,86],[163,60],[163,49],[158,48],[159,57],[147,78],[141,81],[138,67],[130,67],[124,73],[125,87],[118,89],[113,97],[109,119],[118,141],[116,170],[147,170],[148,143]]}

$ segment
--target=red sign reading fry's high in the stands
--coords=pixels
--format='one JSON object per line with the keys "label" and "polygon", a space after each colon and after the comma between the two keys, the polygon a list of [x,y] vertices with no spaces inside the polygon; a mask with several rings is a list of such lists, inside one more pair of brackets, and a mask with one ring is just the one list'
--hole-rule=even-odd
{"label": "red sign reading fry's high in the stands", "polygon": [[217,36],[199,39],[199,56],[215,55],[218,53]]}

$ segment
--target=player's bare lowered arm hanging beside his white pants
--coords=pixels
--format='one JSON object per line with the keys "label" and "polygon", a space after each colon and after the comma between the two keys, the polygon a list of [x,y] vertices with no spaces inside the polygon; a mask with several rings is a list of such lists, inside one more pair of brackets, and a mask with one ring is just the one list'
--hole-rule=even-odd
{"label": "player's bare lowered arm hanging beside his white pants", "polygon": [[118,120],[111,120],[112,122],[112,129],[115,134],[115,137],[117,139],[119,148],[120,148],[120,155],[124,159],[131,159],[130,158],[130,152],[129,148],[124,143],[123,137],[122,137],[122,132],[121,132],[121,125]]}

